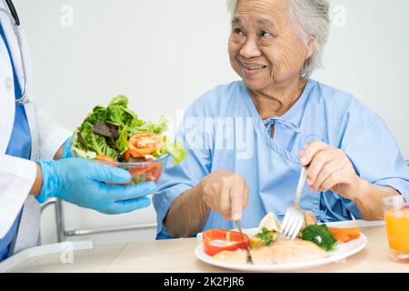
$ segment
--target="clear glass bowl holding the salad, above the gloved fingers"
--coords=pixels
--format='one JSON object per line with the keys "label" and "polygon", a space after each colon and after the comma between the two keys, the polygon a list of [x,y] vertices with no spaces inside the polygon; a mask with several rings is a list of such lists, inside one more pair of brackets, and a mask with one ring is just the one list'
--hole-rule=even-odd
{"label": "clear glass bowl holding the salad, above the gloved fingers", "polygon": [[132,178],[131,182],[125,184],[124,186],[133,186],[143,182],[155,182],[157,184],[160,177],[162,176],[162,173],[164,172],[164,168],[169,156],[170,156],[169,154],[166,154],[151,161],[132,160],[127,163],[120,163],[116,161],[107,161],[101,159],[93,159],[91,161],[101,163],[107,166],[115,166],[125,169],[131,174]]}

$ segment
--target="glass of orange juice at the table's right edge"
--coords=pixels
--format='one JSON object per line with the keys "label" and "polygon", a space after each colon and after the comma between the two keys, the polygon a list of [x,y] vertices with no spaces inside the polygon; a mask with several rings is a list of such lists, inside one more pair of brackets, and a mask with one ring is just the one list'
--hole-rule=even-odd
{"label": "glass of orange juice at the table's right edge", "polygon": [[389,209],[384,217],[389,246],[394,251],[409,253],[409,207]]}

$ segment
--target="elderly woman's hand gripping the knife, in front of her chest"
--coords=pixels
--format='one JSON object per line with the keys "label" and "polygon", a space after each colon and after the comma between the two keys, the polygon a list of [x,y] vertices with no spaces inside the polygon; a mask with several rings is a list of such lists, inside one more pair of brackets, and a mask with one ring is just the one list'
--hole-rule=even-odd
{"label": "elderly woman's hand gripping the knife, in front of her chest", "polygon": [[226,220],[240,220],[247,206],[249,190],[243,176],[217,171],[206,176],[201,184],[206,206]]}

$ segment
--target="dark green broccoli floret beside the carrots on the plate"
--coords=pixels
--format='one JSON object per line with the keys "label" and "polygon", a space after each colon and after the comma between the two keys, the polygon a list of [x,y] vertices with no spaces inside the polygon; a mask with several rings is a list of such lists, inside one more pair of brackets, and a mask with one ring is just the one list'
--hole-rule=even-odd
{"label": "dark green broccoli floret beside the carrots on the plate", "polygon": [[301,232],[301,238],[313,242],[325,251],[334,249],[336,239],[326,225],[307,226]]}

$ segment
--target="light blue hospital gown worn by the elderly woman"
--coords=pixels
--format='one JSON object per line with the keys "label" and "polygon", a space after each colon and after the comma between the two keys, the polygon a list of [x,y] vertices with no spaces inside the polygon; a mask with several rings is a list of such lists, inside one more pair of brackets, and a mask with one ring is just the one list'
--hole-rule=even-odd
{"label": "light blue hospital gown worn by the elderly woman", "polygon": [[[244,176],[250,196],[243,227],[258,226],[268,212],[283,219],[301,171],[297,155],[312,141],[343,149],[359,176],[409,198],[409,167],[382,118],[352,95],[314,80],[285,115],[268,120],[244,82],[219,85],[188,108],[176,139],[185,143],[187,156],[180,165],[169,162],[154,196],[157,238],[170,237],[163,220],[175,198],[217,170]],[[352,201],[331,191],[311,193],[308,186],[301,204],[321,222],[361,217]],[[203,230],[212,228],[234,224],[212,211]]]}

